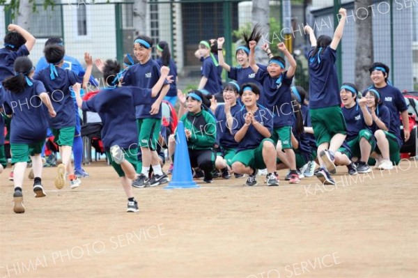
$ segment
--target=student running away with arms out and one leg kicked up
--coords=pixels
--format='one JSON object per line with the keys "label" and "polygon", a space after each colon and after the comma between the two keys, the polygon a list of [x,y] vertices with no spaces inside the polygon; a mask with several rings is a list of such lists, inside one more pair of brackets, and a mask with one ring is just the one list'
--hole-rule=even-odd
{"label": "student running away with arms out and one leg kicked up", "polygon": [[138,203],[132,192],[132,180],[137,177],[138,130],[135,121],[135,106],[149,105],[167,78],[169,68],[161,68],[161,76],[153,88],[123,86],[118,79],[121,65],[117,61],[104,63],[103,79],[109,88],[104,88],[90,100],[84,102],[80,96],[80,85],[74,86],[77,105],[83,111],[92,111],[102,119],[102,141],[107,157],[121,178],[127,196],[127,212],[136,213]]}

